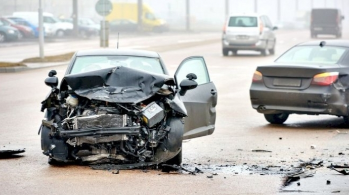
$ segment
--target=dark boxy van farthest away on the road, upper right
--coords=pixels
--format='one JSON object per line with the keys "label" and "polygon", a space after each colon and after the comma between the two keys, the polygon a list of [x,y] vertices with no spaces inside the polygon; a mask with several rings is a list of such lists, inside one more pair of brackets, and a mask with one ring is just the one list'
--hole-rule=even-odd
{"label": "dark boxy van farthest away on the road, upper right", "polygon": [[342,37],[342,20],[339,9],[313,9],[311,13],[311,36],[319,34],[333,34],[337,38]]}

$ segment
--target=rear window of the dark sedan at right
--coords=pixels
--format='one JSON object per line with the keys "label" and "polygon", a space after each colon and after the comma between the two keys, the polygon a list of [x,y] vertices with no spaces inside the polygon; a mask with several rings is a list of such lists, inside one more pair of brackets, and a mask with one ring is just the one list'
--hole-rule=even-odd
{"label": "rear window of the dark sedan at right", "polygon": [[336,64],[345,53],[344,47],[295,46],[278,58],[277,63]]}

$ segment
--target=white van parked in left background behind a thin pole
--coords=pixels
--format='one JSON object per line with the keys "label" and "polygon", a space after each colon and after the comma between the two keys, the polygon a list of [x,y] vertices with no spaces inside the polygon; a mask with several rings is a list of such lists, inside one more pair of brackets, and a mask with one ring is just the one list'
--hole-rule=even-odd
{"label": "white van parked in left background behind a thin pole", "polygon": [[[38,12],[14,12],[13,16],[26,19],[34,24],[39,23]],[[73,24],[68,22],[61,22],[53,14],[44,12],[43,14],[43,26],[45,27],[46,36],[58,36],[62,37],[71,34],[73,30]]]}

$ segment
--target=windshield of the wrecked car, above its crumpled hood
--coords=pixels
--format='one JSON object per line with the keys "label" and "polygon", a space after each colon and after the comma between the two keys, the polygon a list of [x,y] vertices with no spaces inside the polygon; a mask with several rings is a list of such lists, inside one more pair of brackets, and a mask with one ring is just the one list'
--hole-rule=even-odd
{"label": "windshield of the wrecked car, above its crumpled hood", "polygon": [[89,72],[105,68],[124,66],[148,71],[156,74],[164,74],[158,58],[146,58],[138,56],[80,56],[76,57],[70,74]]}

